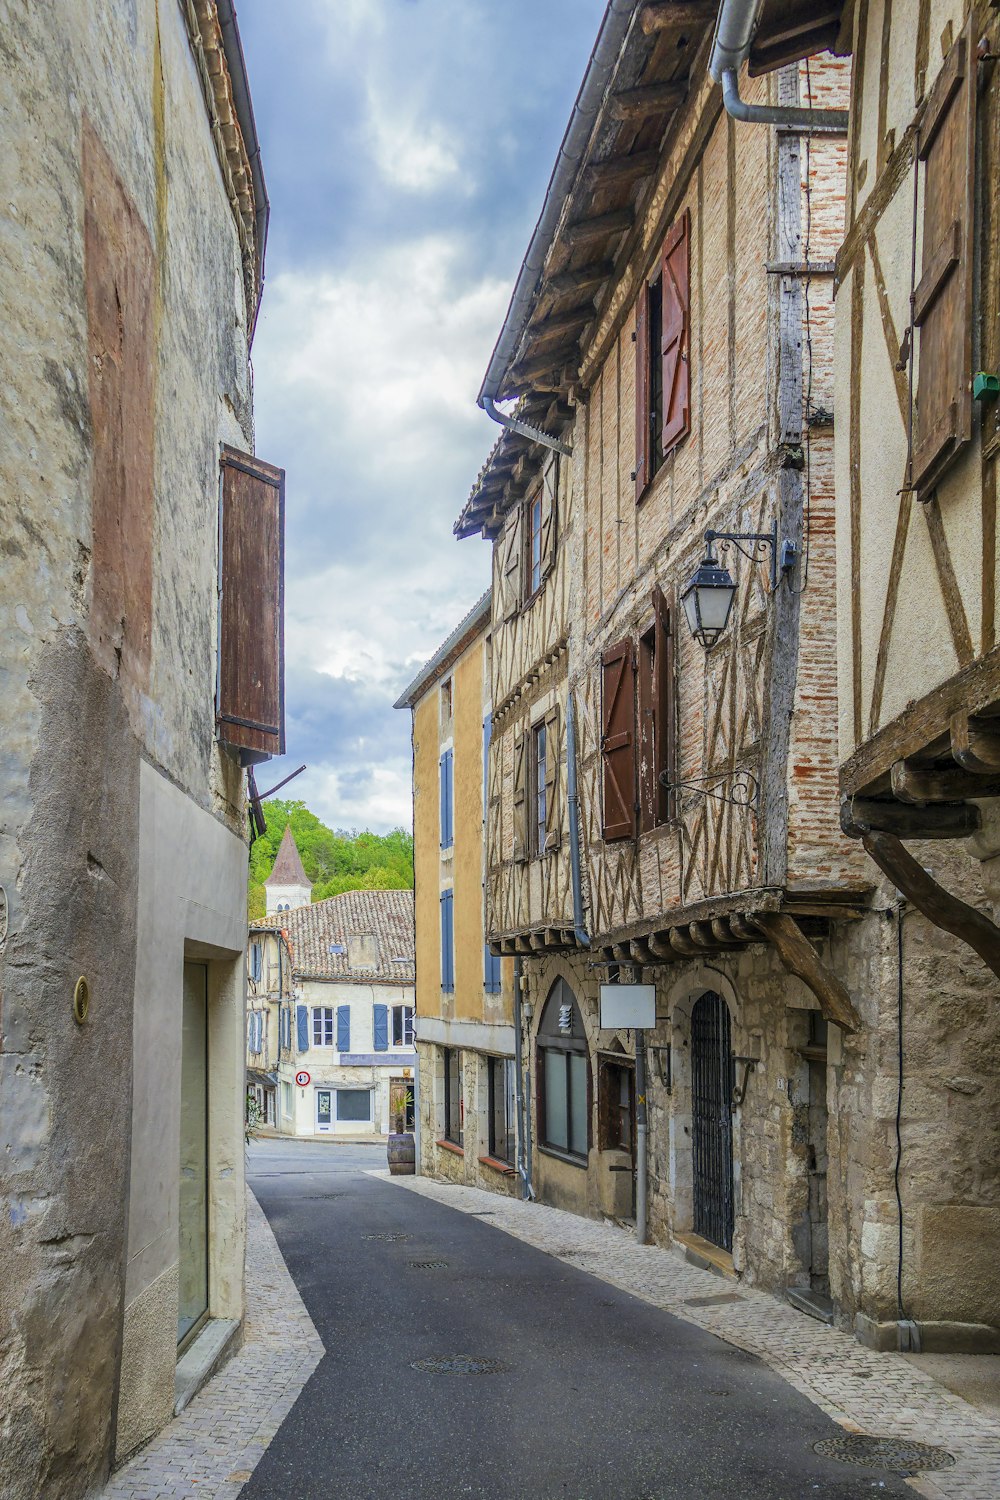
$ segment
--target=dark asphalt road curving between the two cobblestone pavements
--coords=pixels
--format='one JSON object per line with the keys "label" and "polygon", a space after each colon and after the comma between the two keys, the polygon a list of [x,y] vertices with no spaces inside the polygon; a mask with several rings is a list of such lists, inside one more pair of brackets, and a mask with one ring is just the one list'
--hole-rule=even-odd
{"label": "dark asphalt road curving between the two cobblestone pavements", "polygon": [[[252,1148],[250,1185],[327,1353],[241,1500],[913,1494],[814,1454],[843,1430],[753,1356],[489,1216],[364,1176],[384,1160]],[[457,1354],[504,1368],[412,1368]]]}

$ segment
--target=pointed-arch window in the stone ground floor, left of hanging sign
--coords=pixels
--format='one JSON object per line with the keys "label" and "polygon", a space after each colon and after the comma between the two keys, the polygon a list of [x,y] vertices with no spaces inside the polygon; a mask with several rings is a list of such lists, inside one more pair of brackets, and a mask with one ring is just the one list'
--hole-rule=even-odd
{"label": "pointed-arch window in the stone ground floor, left of hanging sign", "polygon": [[591,1059],[583,1017],[565,980],[556,980],[549,990],[535,1046],[541,1144],[585,1167],[591,1143]]}

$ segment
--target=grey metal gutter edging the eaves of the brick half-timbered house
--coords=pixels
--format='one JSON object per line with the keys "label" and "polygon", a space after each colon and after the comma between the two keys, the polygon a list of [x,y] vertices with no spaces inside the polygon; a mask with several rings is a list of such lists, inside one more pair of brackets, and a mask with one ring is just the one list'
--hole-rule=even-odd
{"label": "grey metal gutter edging the eaves of the brick half-timbered house", "polygon": [[552,171],[552,177],[549,178],[549,188],[546,189],[541,214],[538,216],[535,232],[531,237],[528,252],[525,254],[520,272],[517,273],[507,316],[504,318],[504,327],[501,328],[499,339],[496,340],[496,348],[490,356],[489,369],[486,370],[483,387],[478,394],[480,406],[489,417],[493,418],[493,422],[499,422],[502,428],[520,432],[522,436],[531,438],[534,442],[541,442],[547,448],[553,448],[556,453],[568,454],[571,448],[564,442],[559,442],[558,438],[552,438],[541,432],[538,428],[532,428],[528,423],[519,423],[516,417],[508,417],[505,412],[499,411],[495,402],[507,374],[507,368],[513,360],[525,332],[528,314],[538,288],[538,279],[546,264],[546,256],[552,246],[567,195],[576,182],[580,160],[586,152],[601,105],[604,104],[615,64],[621,57],[621,51],[625,45],[625,38],[628,36],[634,15],[636,0],[610,0],[607,10],[604,12],[601,30],[597,42],[594,44],[591,62],[588,63],[580,93],[577,94],[573,106],[573,114],[570,116],[570,123],[556,158],[556,165]]}

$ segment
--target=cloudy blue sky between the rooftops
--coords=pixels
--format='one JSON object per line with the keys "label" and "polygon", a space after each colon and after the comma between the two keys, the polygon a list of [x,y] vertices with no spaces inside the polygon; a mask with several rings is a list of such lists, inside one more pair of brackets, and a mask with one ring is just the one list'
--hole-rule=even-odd
{"label": "cloudy blue sky between the rooftops", "polygon": [[286,756],[333,828],[411,825],[393,702],[489,584],[451,526],[475,398],[604,0],[240,0],[271,204],[255,450],[286,471]]}

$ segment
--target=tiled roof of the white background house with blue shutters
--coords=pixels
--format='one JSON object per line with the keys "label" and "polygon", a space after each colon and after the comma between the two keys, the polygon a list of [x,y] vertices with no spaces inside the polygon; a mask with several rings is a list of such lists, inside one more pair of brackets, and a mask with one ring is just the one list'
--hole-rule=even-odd
{"label": "tiled roof of the white background house with blue shutters", "polygon": [[292,906],[267,926],[271,922],[288,933],[297,978],[414,982],[412,891],[345,891],[312,906]]}

